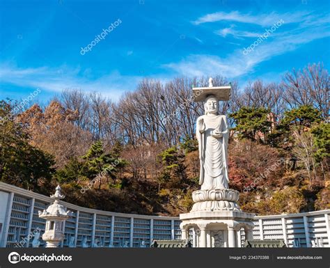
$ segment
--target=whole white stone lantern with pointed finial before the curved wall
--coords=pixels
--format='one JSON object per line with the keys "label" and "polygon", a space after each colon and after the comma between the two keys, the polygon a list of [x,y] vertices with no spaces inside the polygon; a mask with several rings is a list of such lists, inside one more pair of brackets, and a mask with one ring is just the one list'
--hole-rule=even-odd
{"label": "whole white stone lantern with pointed finial before the curved wall", "polygon": [[66,210],[66,207],[59,203],[59,200],[65,198],[61,194],[61,187],[56,187],[55,194],[50,196],[54,203],[47,207],[47,210],[39,211],[39,216],[46,219],[45,233],[42,239],[47,242],[46,248],[56,248],[63,242],[65,220],[72,216],[73,212]]}

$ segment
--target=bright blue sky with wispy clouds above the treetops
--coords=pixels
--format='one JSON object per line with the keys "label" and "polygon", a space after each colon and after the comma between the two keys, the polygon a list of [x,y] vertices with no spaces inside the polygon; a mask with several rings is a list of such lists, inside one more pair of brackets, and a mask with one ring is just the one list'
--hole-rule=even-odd
{"label": "bright blue sky with wispy clouds above the treetops", "polygon": [[243,87],[279,81],[308,63],[329,68],[329,7],[311,0],[0,0],[0,99],[20,100],[40,88],[34,100],[47,102],[64,88],[80,88],[118,100],[143,77],[222,74]]}

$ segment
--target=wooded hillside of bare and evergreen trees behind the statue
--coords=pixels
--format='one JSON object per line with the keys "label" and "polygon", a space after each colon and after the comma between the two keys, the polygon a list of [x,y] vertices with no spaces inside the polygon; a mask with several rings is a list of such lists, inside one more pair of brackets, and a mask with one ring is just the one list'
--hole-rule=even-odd
{"label": "wooded hillside of bare and evergreen trees behind the statue", "polygon": [[[231,128],[230,187],[241,192],[242,209],[329,209],[330,80],[322,64],[245,88],[213,79],[233,89],[220,111]],[[203,114],[193,86],[207,86],[207,78],[144,79],[118,102],[81,90],[63,90],[45,107],[2,100],[0,179],[47,195],[60,183],[66,201],[100,210],[188,212],[199,187],[195,125]]]}

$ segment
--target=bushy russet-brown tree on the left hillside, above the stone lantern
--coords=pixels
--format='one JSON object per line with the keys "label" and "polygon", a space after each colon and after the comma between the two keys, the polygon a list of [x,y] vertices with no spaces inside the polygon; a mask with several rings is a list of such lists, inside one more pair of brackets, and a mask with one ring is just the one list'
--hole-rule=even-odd
{"label": "bushy russet-brown tree on the left hillside, above the stone lantern", "polygon": [[90,132],[74,125],[76,113],[52,101],[44,111],[33,105],[19,115],[19,122],[31,136],[31,144],[54,155],[58,168],[71,157],[84,155],[92,142]]}

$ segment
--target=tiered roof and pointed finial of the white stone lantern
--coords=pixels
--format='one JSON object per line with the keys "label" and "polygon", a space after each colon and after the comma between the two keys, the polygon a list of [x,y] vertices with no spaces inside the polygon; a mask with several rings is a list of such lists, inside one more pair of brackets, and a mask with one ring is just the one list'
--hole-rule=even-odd
{"label": "tiered roof and pointed finial of the white stone lantern", "polygon": [[61,194],[61,187],[59,185],[57,185],[56,187],[55,194],[50,196],[50,198],[54,199],[54,203],[52,205],[49,205],[46,210],[43,210],[42,212],[39,211],[40,218],[49,219],[54,217],[65,219],[72,216],[73,212],[71,212],[70,210],[67,211],[66,207],[59,203],[59,200],[65,198],[65,196]]}

